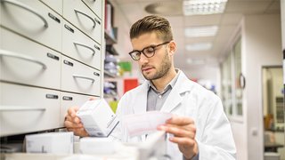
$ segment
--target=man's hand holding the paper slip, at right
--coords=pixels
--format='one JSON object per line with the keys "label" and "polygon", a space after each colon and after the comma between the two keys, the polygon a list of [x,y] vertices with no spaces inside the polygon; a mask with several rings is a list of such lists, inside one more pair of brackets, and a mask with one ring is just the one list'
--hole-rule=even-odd
{"label": "man's hand holding the paper slip, at right", "polygon": [[191,159],[198,154],[198,144],[195,140],[196,126],[191,118],[173,116],[167,120],[166,124],[160,125],[158,129],[174,135],[169,140],[178,144],[178,148],[185,158]]}

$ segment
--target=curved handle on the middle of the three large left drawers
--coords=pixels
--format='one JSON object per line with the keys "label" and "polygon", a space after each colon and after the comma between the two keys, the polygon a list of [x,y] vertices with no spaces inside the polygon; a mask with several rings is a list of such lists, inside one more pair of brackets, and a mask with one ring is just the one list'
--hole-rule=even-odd
{"label": "curved handle on the middle of the three large left drawers", "polygon": [[41,65],[43,67],[43,69],[46,69],[45,63],[39,61],[39,60],[35,60],[29,56],[26,55],[20,55],[16,52],[9,52],[9,51],[5,51],[5,50],[0,50],[0,57],[1,56],[5,56],[5,57],[12,57],[12,58],[16,58],[16,59],[20,59],[20,60],[27,60],[27,61],[31,61],[34,63],[37,63],[39,65]]}

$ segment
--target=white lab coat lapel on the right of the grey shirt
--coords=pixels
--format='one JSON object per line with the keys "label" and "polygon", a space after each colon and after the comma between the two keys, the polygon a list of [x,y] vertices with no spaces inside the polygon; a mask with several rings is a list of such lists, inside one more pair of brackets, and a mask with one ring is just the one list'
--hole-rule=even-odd
{"label": "white lab coat lapel on the right of the grey shirt", "polygon": [[160,109],[162,112],[171,112],[176,108],[183,100],[183,93],[191,91],[190,80],[180,71],[178,79],[175,83],[174,88],[169,93],[166,102]]}

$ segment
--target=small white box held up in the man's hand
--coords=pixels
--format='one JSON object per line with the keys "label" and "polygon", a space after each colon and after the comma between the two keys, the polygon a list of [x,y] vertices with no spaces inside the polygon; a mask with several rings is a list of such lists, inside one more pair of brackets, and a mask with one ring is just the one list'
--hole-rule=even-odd
{"label": "small white box held up in the man's hand", "polygon": [[94,137],[108,137],[118,118],[104,99],[88,100],[77,111],[86,132]]}

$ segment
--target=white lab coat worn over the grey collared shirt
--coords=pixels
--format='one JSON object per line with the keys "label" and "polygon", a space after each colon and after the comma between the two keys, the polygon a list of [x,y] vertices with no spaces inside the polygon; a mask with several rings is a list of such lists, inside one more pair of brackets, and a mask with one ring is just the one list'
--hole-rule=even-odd
{"label": "white lab coat worn over the grey collared shirt", "polygon": [[[199,147],[199,160],[232,160],[236,148],[232,138],[231,125],[224,115],[221,100],[213,92],[191,82],[182,71],[166,102],[160,111],[178,116],[189,116],[196,124],[196,140]],[[118,103],[117,115],[139,114],[146,112],[148,82],[126,92]],[[145,135],[130,138],[118,125],[112,137],[125,142],[143,141]],[[167,141],[167,155],[171,159],[183,159],[175,143]]]}

